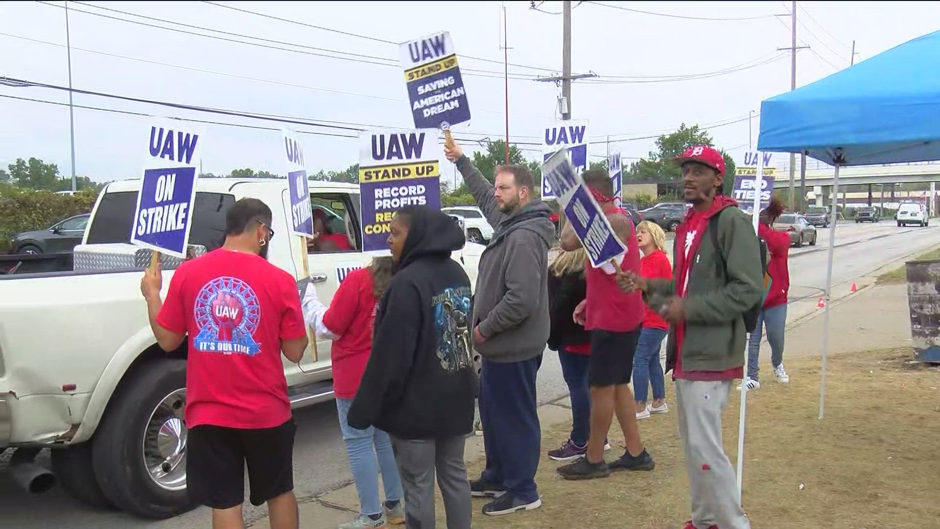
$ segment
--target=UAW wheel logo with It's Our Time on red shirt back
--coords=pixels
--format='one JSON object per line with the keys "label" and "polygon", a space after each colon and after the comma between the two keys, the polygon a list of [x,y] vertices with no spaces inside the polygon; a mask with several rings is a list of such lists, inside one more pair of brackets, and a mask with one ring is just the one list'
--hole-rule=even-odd
{"label": "UAW wheel logo with It's Our Time on red shirt back", "polygon": [[215,278],[196,296],[196,326],[193,344],[199,351],[255,356],[261,345],[252,336],[261,320],[258,296],[237,278]]}

